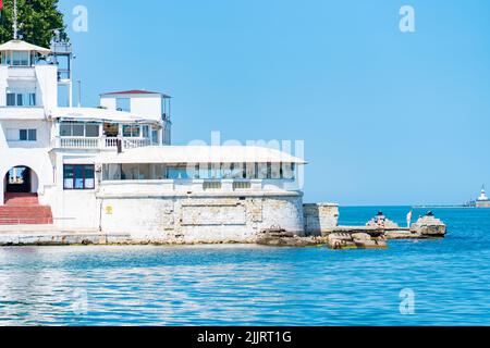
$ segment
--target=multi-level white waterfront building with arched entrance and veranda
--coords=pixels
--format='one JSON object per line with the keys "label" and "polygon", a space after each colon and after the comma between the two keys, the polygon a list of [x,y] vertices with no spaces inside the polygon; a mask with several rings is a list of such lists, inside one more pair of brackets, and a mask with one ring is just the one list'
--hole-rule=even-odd
{"label": "multi-level white waterfront building with arched entrance and veranda", "polygon": [[[0,225],[126,233],[134,241],[241,241],[270,226],[304,233],[302,159],[259,147],[171,146],[170,97],[159,92],[61,108],[58,89],[71,89],[71,71],[56,52],[12,40],[0,54]],[[321,224],[336,224],[336,207],[322,207]]]}

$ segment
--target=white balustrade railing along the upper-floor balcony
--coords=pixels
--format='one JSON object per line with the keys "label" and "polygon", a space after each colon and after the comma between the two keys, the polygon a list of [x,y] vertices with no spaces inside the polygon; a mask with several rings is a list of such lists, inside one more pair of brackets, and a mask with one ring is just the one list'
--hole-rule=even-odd
{"label": "white balustrade railing along the upper-floor balcony", "polygon": [[[87,150],[115,150],[118,148],[118,138],[87,138],[87,137],[57,137],[56,148],[61,149],[87,149]],[[123,149],[135,149],[151,145],[147,138],[123,138]]]}

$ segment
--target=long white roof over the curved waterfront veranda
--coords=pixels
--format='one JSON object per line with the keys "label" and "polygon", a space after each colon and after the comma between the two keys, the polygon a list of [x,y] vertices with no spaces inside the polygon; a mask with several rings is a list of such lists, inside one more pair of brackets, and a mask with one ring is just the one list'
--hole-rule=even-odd
{"label": "long white roof over the curved waterfront veranda", "polygon": [[150,146],[122,153],[102,153],[97,163],[297,163],[299,158],[275,149],[257,146]]}

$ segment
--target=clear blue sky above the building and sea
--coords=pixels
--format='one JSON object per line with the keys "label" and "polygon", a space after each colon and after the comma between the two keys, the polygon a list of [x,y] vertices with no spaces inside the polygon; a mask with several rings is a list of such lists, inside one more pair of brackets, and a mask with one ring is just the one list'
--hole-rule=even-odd
{"label": "clear blue sky above the building and sea", "polygon": [[490,186],[490,1],[61,0],[69,27],[77,4],[85,105],[145,88],[173,96],[175,144],[305,140],[306,201],[460,203]]}

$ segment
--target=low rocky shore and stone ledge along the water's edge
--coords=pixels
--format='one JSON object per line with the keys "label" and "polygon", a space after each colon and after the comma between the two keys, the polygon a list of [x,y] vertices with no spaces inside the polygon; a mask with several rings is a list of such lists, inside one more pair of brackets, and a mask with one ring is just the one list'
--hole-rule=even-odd
{"label": "low rocky shore and stone ledge along the water's edge", "polygon": [[[382,215],[370,221],[366,226],[338,226],[322,231],[315,236],[298,236],[281,227],[271,227],[245,241],[186,241],[172,240],[135,240],[130,234],[102,234],[99,232],[51,232],[25,229],[15,233],[0,231],[0,246],[88,246],[88,245],[223,245],[223,244],[257,244],[269,247],[329,247],[334,250],[346,249],[387,249],[392,239],[428,239],[443,238],[446,234],[445,224],[432,213],[420,216],[411,228],[399,227]],[[382,217],[381,217],[382,216]]]}

